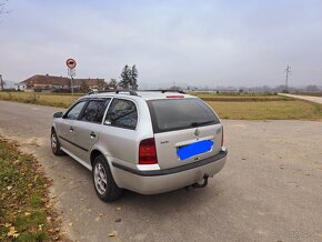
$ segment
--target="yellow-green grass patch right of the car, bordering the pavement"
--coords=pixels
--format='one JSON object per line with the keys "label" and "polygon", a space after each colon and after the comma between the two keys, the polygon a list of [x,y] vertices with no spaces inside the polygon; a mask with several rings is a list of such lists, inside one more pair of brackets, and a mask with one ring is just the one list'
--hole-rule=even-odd
{"label": "yellow-green grass patch right of the car, bordering the pavement", "polygon": [[322,120],[322,105],[302,101],[208,102],[222,119]]}

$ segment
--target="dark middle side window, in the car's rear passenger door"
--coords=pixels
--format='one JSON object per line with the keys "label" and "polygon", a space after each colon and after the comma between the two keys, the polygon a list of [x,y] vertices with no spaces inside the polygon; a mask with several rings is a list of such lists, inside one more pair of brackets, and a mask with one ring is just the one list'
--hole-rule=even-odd
{"label": "dark middle side window, in the car's rear passenger door", "polygon": [[109,103],[109,101],[110,99],[108,101],[107,100],[89,101],[89,104],[84,109],[80,120],[101,123],[104,115],[105,107]]}

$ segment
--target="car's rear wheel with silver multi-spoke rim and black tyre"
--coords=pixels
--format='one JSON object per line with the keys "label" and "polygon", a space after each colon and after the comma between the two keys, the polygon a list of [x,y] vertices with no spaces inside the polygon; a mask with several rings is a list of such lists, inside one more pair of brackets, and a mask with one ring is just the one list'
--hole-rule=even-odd
{"label": "car's rear wheel with silver multi-spoke rim and black tyre", "polygon": [[95,157],[92,177],[97,194],[102,201],[112,202],[121,196],[122,189],[117,185],[104,155]]}

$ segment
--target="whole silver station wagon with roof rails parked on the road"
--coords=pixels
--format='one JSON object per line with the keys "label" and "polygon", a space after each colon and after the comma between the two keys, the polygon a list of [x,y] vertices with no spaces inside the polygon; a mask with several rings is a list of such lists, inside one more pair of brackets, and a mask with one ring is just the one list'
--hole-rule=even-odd
{"label": "whole silver station wagon with roof rails parked on the road", "polygon": [[225,163],[223,127],[197,97],[169,91],[89,93],[53,114],[51,148],[92,171],[103,201],[123,189],[203,188]]}

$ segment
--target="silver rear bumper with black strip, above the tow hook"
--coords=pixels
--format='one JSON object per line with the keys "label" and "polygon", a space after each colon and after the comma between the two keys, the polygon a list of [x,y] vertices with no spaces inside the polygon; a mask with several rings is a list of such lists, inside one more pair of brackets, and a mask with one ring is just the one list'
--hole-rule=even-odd
{"label": "silver rear bumper with black strip, above the tow hook", "polygon": [[112,173],[117,184],[141,194],[157,194],[191,185],[202,180],[208,173],[213,175],[222,170],[228,151],[217,155],[163,170],[141,171],[112,162]]}

